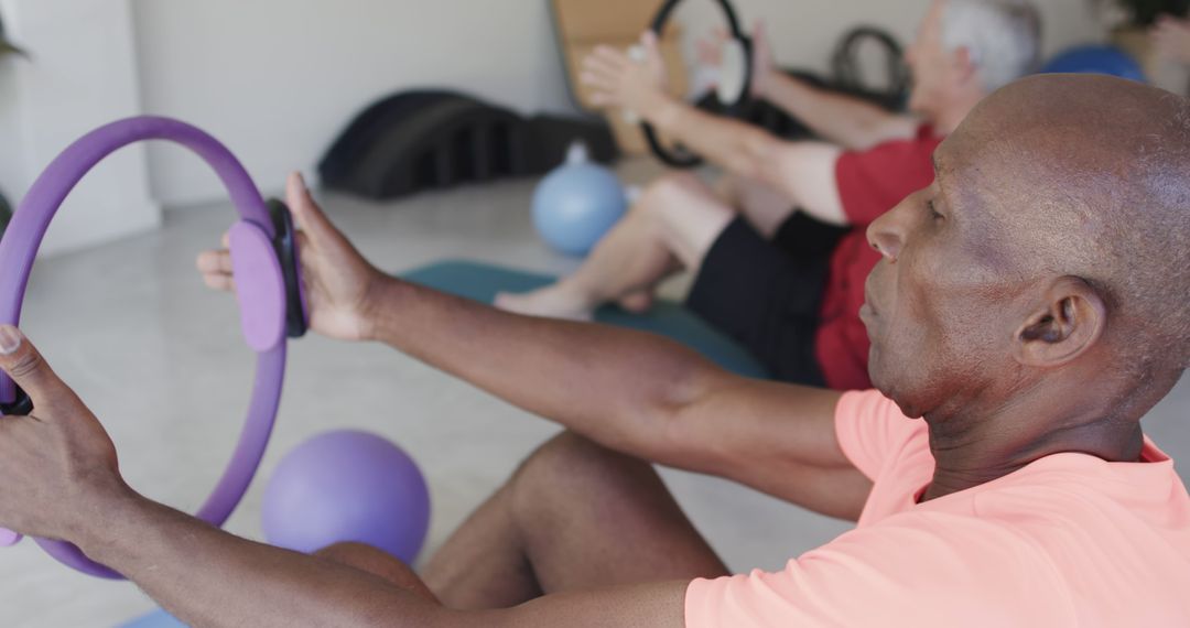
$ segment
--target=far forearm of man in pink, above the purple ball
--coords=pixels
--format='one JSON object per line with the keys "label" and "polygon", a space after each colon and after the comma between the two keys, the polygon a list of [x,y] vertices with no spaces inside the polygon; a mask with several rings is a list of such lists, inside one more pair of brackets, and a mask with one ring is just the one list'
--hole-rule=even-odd
{"label": "far forearm of man in pink, above the purple ball", "polygon": [[605,446],[654,458],[665,427],[721,372],[653,334],[522,316],[401,280],[370,299],[368,335]]}

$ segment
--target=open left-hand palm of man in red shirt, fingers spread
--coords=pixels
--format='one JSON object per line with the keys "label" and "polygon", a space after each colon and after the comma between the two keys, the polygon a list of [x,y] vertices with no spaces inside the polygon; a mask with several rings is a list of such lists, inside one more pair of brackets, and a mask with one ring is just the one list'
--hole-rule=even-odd
{"label": "open left-hand palm of man in red shirt, fingers spread", "polygon": [[583,59],[580,80],[590,86],[591,102],[599,107],[622,107],[649,119],[656,107],[669,99],[665,61],[657,36],[640,36],[640,58],[612,46],[601,45]]}

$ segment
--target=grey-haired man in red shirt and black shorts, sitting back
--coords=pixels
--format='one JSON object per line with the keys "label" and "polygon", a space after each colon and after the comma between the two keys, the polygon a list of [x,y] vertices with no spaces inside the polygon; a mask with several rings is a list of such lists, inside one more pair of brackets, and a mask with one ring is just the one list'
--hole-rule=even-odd
{"label": "grey-haired man in red shirt and black shorts, sitting back", "polygon": [[[826,142],[788,142],[670,98],[657,43],[646,61],[609,48],[584,63],[596,100],[641,115],[728,176],[712,190],[690,174],[652,183],[574,275],[501,294],[496,307],[585,320],[619,302],[647,309],[658,282],[696,271],[688,307],[746,346],[781,381],[868,388],[859,321],[877,256],[864,228],[933,178],[929,155],[987,94],[1031,71],[1040,19],[1021,0],[935,1],[906,54],[913,117],[815,89],[776,70],[756,33],[753,89]],[[796,208],[796,209],[795,209]]]}

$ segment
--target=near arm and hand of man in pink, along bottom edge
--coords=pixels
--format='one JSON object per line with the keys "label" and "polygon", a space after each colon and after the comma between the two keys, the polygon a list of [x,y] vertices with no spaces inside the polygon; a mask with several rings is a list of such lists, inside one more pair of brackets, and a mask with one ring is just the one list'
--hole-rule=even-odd
{"label": "near arm and hand of man in pink, along bottom edge", "polygon": [[79,545],[187,624],[683,624],[681,582],[458,613],[416,586],[233,536],[132,491],[99,421],[13,327],[0,327],[0,368],[35,404],[33,416],[0,421],[0,526]]}

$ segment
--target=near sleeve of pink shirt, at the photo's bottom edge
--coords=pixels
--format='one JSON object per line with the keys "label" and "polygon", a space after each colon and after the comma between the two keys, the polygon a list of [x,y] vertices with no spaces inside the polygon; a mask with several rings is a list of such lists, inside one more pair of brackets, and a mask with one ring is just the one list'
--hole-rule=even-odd
{"label": "near sleeve of pink shirt, at the photo's bottom edge", "polygon": [[848,532],[781,572],[699,579],[688,628],[1073,626],[1051,564],[1008,528],[902,514]]}

